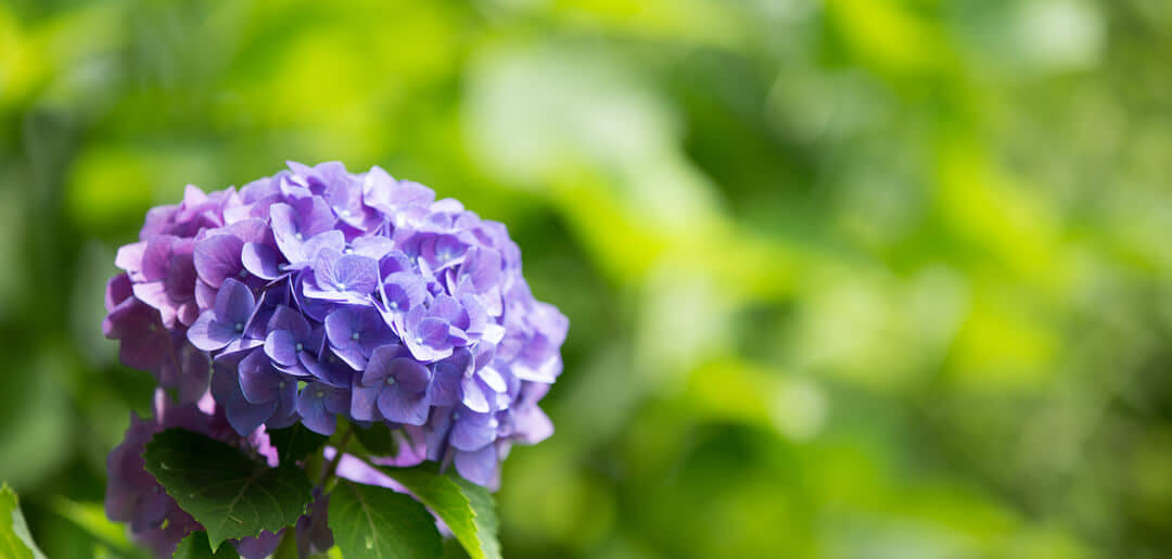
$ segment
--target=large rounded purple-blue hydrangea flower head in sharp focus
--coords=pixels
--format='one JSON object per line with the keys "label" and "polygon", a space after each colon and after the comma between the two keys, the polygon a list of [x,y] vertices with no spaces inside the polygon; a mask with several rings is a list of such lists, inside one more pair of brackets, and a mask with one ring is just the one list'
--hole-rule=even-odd
{"label": "large rounded purple-blue hydrangea flower head in sharp focus", "polygon": [[504,225],[377,166],[288,166],[148,212],[107,288],[122,361],[178,405],[210,394],[239,436],[381,422],[493,486],[513,443],[552,434],[568,321]]}

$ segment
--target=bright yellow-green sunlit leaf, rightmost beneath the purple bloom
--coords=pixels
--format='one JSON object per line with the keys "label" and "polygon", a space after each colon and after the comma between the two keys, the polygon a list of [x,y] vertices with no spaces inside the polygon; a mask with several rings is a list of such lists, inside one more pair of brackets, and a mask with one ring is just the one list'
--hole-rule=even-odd
{"label": "bright yellow-green sunlit leaf, rightmost beneath the purple bloom", "polygon": [[443,519],[471,559],[500,559],[497,511],[489,490],[434,466],[381,468]]}

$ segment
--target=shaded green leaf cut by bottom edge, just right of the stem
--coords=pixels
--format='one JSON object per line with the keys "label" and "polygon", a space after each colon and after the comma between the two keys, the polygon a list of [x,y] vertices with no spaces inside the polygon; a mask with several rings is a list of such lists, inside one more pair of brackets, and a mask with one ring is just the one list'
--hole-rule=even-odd
{"label": "shaded green leaf cut by bottom edge, just right of the stem", "polygon": [[327,516],[346,559],[423,559],[443,551],[428,510],[387,488],[340,482],[329,496]]}

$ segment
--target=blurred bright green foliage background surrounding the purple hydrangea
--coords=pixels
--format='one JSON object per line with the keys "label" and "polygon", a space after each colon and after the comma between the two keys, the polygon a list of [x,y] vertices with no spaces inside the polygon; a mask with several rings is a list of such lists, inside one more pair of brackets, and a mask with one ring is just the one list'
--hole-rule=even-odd
{"label": "blurred bright green foliage background surrounding the purple hydrangea", "polygon": [[134,555],[115,248],[340,159],[571,318],[506,557],[1170,557],[1170,80],[1164,0],[0,1],[0,478]]}

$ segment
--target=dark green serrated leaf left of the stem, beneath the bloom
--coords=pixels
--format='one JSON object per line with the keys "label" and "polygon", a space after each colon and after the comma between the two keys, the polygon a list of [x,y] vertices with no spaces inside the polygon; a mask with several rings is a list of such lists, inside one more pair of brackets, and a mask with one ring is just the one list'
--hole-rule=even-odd
{"label": "dark green serrated leaf left of the stem, beneath the bloom", "polygon": [[204,525],[213,550],[229,538],[292,525],[312,497],[309,478],[299,468],[268,468],[184,429],[155,435],[143,458],[168,495]]}

